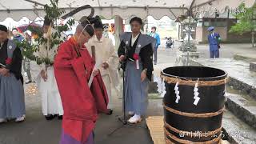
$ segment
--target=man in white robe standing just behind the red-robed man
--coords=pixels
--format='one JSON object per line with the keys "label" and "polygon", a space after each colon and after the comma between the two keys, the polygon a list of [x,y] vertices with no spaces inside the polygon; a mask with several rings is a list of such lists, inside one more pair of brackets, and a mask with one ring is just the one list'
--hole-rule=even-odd
{"label": "man in white robe standing just behind the red-robed man", "polygon": [[[114,50],[113,42],[110,38],[105,38],[103,35],[102,22],[94,23],[94,37],[90,38],[86,43],[90,55],[94,58],[96,66],[102,74],[103,82],[106,86],[109,96],[109,114],[112,114],[113,108],[111,89],[117,90],[119,85],[118,74],[118,54]],[[94,48],[92,48],[94,47]]]}

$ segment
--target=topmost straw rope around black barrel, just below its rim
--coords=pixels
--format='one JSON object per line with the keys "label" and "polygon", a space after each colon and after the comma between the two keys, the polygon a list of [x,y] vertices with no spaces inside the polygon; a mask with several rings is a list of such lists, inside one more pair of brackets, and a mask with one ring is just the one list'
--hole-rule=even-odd
{"label": "topmost straw rope around black barrel, just below its rim", "polygon": [[194,86],[196,83],[198,83],[198,86],[219,86],[219,85],[226,84],[226,82],[228,82],[228,79],[229,79],[229,78],[225,78],[217,81],[200,81],[200,78],[199,78],[199,81],[193,81],[191,79],[170,78],[163,74],[161,74],[160,77],[163,78],[164,81],[167,83],[175,84],[178,82],[178,85],[186,85],[186,86]]}

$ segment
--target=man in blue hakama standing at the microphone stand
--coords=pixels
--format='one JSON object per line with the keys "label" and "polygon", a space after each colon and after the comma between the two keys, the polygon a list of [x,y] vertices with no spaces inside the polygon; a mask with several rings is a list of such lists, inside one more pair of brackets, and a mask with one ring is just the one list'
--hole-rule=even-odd
{"label": "man in blue hakama standing at the microphone stand", "polygon": [[142,121],[146,113],[148,84],[153,71],[153,47],[155,39],[140,33],[142,19],[138,17],[130,20],[131,33],[121,36],[118,48],[120,61],[125,61],[125,102],[126,110],[133,115],[128,122]]}

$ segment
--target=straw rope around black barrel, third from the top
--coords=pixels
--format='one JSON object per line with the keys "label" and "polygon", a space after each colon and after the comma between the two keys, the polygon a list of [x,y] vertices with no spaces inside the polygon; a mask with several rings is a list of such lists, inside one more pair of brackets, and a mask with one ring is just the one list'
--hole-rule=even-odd
{"label": "straw rope around black barrel, third from the top", "polygon": [[189,136],[189,137],[210,137],[210,136],[213,136],[214,134],[218,134],[219,132],[222,131],[222,126],[220,128],[218,128],[217,130],[214,130],[214,131],[207,131],[206,134],[202,134],[202,135],[198,135],[197,132],[189,132],[189,131],[184,131],[184,130],[178,130],[176,129],[175,127],[173,126],[170,126],[168,123],[165,122],[165,126],[174,131],[175,133],[177,134],[186,134],[186,136]]}

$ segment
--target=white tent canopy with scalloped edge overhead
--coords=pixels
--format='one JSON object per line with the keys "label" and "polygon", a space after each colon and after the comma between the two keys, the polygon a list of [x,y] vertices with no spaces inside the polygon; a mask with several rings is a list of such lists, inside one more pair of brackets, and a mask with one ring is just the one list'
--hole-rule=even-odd
{"label": "white tent canopy with scalloped edge overhead", "polygon": [[[256,0],[59,0],[59,8],[74,10],[79,6],[90,5],[94,7],[95,13],[106,19],[115,15],[123,19],[129,19],[134,15],[146,19],[151,15],[155,19],[168,16],[171,19],[186,14],[190,8],[193,12],[215,10],[223,12],[227,6],[230,10],[237,8],[242,2],[247,7],[253,6]],[[43,5],[50,4],[50,0],[0,0],[0,21],[13,18],[18,21],[22,17],[34,20],[38,16],[43,17]],[[196,9],[198,8],[198,9]],[[75,19],[90,14],[90,10],[82,10],[74,15]]]}

